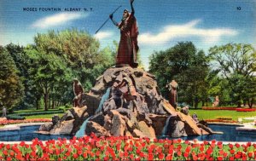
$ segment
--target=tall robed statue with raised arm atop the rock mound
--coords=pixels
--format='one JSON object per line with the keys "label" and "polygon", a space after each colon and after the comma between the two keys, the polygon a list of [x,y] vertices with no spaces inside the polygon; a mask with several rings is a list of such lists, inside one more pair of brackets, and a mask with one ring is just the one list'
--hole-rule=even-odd
{"label": "tall robed statue with raised arm atop the rock mound", "polygon": [[134,16],[135,11],[133,8],[134,0],[131,2],[131,13],[127,9],[124,10],[123,18],[120,23],[113,20],[113,14],[109,15],[115,26],[120,30],[119,49],[116,58],[116,66],[131,66],[137,67],[137,52],[139,47],[137,46],[138,27],[137,20]]}

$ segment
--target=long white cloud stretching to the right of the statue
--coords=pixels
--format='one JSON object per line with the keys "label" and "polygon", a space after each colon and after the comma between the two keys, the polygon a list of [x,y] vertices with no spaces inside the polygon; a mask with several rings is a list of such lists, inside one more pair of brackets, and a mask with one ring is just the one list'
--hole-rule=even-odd
{"label": "long white cloud stretching to the right of the statue", "polygon": [[165,26],[162,32],[152,34],[150,32],[142,33],[138,37],[140,43],[161,44],[177,37],[201,37],[205,43],[215,43],[223,36],[236,36],[238,32],[230,28],[210,28],[201,29],[196,27],[201,20],[191,20],[183,25]]}

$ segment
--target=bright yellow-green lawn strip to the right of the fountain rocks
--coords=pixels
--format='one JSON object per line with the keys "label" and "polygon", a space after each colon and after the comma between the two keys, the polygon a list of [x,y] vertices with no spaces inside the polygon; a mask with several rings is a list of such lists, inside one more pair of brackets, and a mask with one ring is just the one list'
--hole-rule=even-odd
{"label": "bright yellow-green lawn strip to the right of the fountain rocks", "polygon": [[229,110],[195,110],[189,109],[189,114],[192,116],[196,113],[197,117],[201,119],[217,119],[217,118],[232,118],[233,120],[238,120],[238,118],[249,118],[255,117],[256,112],[236,112]]}

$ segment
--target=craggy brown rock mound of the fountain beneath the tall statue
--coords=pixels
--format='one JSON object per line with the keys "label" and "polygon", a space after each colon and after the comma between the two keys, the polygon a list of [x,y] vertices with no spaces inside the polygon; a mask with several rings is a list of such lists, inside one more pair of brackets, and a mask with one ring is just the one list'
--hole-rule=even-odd
{"label": "craggy brown rock mound of the fountain beneath the tall statue", "polygon": [[163,133],[181,137],[207,135],[210,131],[198,127],[189,115],[176,112],[160,95],[155,77],[143,69],[109,68],[82,98],[83,107],[73,107],[55,123],[42,125],[40,130],[52,135],[74,135],[90,117],[86,135],[93,132],[97,136],[155,138]]}

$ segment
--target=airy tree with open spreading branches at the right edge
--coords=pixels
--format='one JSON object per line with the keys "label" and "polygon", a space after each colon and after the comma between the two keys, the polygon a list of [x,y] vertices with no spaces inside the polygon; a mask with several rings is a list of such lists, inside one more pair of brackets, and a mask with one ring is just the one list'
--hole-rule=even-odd
{"label": "airy tree with open spreading branches at the right edge", "polygon": [[[231,88],[231,97],[241,107],[243,101],[255,97],[256,87],[253,86],[253,73],[256,72],[256,53],[250,44],[228,43],[209,49],[213,60],[212,66],[223,78],[226,78]],[[254,96],[253,96],[254,95]],[[250,98],[250,99],[248,99]],[[248,102],[252,105],[252,102]]]}

